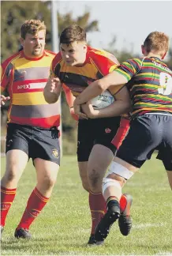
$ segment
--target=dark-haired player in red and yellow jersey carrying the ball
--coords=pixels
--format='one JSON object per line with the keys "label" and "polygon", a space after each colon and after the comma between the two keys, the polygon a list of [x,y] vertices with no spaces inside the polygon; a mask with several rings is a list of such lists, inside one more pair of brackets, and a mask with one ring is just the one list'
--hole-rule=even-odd
{"label": "dark-haired player in red and yellow jersey carrying the ball", "polygon": [[[45,99],[51,104],[58,100],[61,85],[69,88],[73,96],[78,96],[90,86],[92,81],[104,77],[119,64],[117,59],[107,51],[88,47],[84,29],[76,24],[65,28],[62,32],[60,48],[61,51],[54,57],[50,70],[51,76],[44,88]],[[114,95],[121,87],[114,88],[110,92]],[[125,104],[124,98],[124,92],[118,92],[115,104],[120,106],[114,107],[108,115],[97,116],[97,119],[80,119],[78,123],[77,160],[83,187],[89,192],[92,214],[92,231],[88,244],[95,244],[95,227],[107,210],[101,184],[103,175],[118,147],[110,142],[117,134],[121,119],[119,115],[129,109],[129,104]],[[125,126],[125,132],[126,130],[128,126]],[[122,137],[118,136],[118,143],[121,140]],[[108,156],[108,159],[105,156]],[[122,205],[125,205],[125,202],[124,197]]]}

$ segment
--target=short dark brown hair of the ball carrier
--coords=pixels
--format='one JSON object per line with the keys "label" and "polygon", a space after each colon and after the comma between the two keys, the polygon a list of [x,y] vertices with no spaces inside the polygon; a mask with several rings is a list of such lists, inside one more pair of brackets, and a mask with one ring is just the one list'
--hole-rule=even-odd
{"label": "short dark brown hair of the ball carrier", "polygon": [[86,42],[86,32],[77,24],[72,24],[65,28],[60,35],[60,43],[70,44],[73,42]]}

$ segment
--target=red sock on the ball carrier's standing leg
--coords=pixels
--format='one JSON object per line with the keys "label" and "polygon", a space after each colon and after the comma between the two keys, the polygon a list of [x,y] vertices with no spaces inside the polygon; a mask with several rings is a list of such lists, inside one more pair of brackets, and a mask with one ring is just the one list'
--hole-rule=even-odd
{"label": "red sock on the ball carrier's standing leg", "polygon": [[96,226],[99,224],[104,214],[107,213],[107,204],[102,193],[92,193],[92,191],[89,191],[89,205],[92,215],[91,234],[95,234]]}

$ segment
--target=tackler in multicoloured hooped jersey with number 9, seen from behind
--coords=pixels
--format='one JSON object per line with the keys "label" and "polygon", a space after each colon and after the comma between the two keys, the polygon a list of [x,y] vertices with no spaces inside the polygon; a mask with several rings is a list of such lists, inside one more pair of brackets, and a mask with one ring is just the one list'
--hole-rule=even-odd
{"label": "tackler in multicoloured hooped jersey with number 9, seen from behind", "polygon": [[83,104],[107,88],[123,84],[133,101],[129,134],[104,178],[103,195],[108,211],[96,229],[98,241],[107,237],[110,225],[117,219],[122,186],[151,158],[155,149],[159,150],[157,158],[163,161],[172,189],[172,70],[162,61],[168,47],[168,36],[151,32],[142,45],[143,58],[123,62],[113,73],[95,81],[92,90],[87,88],[76,99],[75,104]]}

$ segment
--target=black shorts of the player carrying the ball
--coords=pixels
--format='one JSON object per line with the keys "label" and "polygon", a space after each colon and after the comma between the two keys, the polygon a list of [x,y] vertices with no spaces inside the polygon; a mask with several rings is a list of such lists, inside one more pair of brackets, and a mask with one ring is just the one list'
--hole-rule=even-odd
{"label": "black shorts of the player carrying the ball", "polygon": [[111,143],[118,131],[121,117],[106,119],[80,119],[77,134],[77,160],[88,161],[92,147],[95,144],[104,145],[116,152],[116,147]]}

